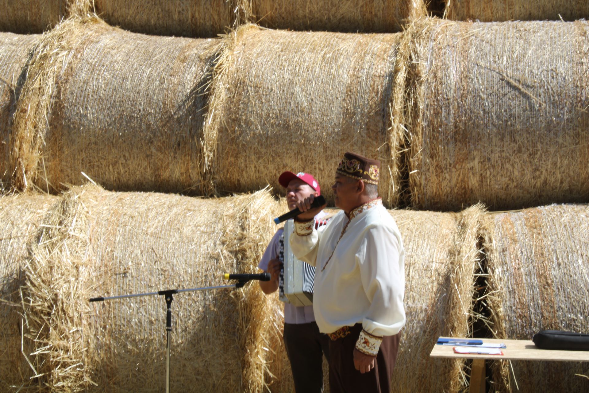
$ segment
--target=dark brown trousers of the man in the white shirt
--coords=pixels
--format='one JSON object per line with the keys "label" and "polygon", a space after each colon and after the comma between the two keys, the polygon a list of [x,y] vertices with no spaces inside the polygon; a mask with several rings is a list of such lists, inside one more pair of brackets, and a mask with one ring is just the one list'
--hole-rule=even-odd
{"label": "dark brown trousers of the man in the white shirt", "polygon": [[361,374],[354,368],[353,357],[360,331],[362,324],[356,323],[350,328],[349,335],[329,342],[330,393],[391,392],[391,378],[399,351],[399,334],[382,339],[375,368]]}

